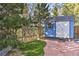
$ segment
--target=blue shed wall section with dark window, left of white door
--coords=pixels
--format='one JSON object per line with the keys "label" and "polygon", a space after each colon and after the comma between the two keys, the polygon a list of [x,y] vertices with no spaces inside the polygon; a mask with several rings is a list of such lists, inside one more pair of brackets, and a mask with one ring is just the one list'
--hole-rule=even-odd
{"label": "blue shed wall section with dark window, left of white door", "polygon": [[51,22],[46,24],[45,26],[45,36],[46,37],[55,37],[55,28],[56,28],[56,24],[55,22]]}

